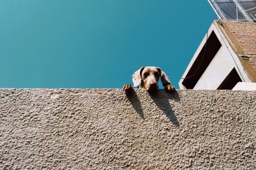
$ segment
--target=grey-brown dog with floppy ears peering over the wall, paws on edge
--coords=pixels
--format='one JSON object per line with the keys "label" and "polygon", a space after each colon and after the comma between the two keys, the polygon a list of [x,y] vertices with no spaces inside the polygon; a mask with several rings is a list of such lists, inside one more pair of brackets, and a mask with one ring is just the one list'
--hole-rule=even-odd
{"label": "grey-brown dog with floppy ears peering over the wall, paws on edge", "polygon": [[[141,67],[135,71],[133,76],[134,87],[145,88],[147,92],[155,93],[158,91],[158,81],[161,79],[163,87],[167,92],[173,92],[174,86],[171,86],[170,79],[159,67]],[[130,91],[133,89],[131,84],[125,84],[123,90]]]}

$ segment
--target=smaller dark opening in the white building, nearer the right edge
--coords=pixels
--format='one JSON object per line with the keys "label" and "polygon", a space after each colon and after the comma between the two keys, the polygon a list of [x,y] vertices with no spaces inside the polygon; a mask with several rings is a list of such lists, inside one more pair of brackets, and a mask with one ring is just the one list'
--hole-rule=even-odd
{"label": "smaller dark opening in the white building, nearer the right edge", "polygon": [[217,90],[231,90],[232,88],[235,87],[235,85],[238,82],[242,82],[242,80],[238,75],[237,71],[235,70],[235,68],[233,68],[230,71],[229,75],[227,75],[227,77],[223,80],[221,85],[219,85]]}

